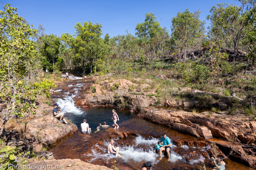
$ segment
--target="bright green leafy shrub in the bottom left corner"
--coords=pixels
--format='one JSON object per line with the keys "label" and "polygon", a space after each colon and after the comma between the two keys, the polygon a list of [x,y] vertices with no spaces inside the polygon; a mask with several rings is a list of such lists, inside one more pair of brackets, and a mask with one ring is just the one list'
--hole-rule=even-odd
{"label": "bright green leafy shrub in the bottom left corner", "polygon": [[[0,139],[0,145],[3,144],[2,139]],[[22,166],[24,164],[27,164],[27,160],[24,158],[26,155],[28,155],[30,151],[26,153],[19,153],[17,147],[10,147],[10,146],[4,146],[0,150],[0,154],[3,155],[3,157],[0,157],[1,162],[1,170],[14,170],[18,167]],[[23,155],[23,157],[21,157]]]}

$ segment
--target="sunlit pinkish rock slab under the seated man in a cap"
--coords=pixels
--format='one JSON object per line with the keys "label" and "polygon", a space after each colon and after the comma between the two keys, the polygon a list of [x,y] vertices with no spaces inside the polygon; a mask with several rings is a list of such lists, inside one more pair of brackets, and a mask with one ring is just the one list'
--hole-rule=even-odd
{"label": "sunlit pinkish rock slab under the seated man in a cap", "polygon": [[53,144],[77,130],[73,123],[66,126],[52,115],[45,115],[28,122],[26,133],[45,145]]}

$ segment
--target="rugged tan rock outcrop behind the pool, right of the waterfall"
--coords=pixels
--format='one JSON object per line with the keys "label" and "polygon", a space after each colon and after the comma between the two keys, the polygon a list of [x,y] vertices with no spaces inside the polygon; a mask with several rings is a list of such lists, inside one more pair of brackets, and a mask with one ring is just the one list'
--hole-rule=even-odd
{"label": "rugged tan rock outcrop behind the pool, right of the waterfall", "polygon": [[[131,110],[148,107],[157,103],[155,90],[144,94],[143,89],[148,86],[148,84],[137,85],[126,79],[116,79],[112,82],[105,80],[91,85],[95,88],[95,92],[88,91],[80,96],[81,98],[75,99],[76,106],[115,105],[117,108],[127,107]],[[153,96],[147,96],[149,94]]]}

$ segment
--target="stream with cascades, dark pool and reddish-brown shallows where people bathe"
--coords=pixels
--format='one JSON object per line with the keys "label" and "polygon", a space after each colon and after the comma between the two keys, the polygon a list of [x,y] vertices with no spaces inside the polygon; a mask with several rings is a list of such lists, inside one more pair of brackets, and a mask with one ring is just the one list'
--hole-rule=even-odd
{"label": "stream with cascades, dark pool and reddish-brown shallows where people bathe", "polygon": [[[73,80],[68,82],[71,87],[69,91],[57,90],[53,99],[57,99],[60,110],[65,113],[65,117],[76,124],[78,131],[68,135],[59,142],[52,144],[49,151],[57,159],[81,159],[92,164],[105,165],[111,167],[116,161],[119,170],[138,170],[146,161],[153,162],[154,170],[197,170],[202,167],[201,162],[206,164],[207,169],[214,166],[210,161],[211,146],[204,139],[198,139],[186,134],[171,130],[170,127],[159,125],[148,120],[136,118],[136,114],[129,113],[128,110],[118,110],[120,126],[114,130],[111,107],[76,107],[74,100],[81,98],[84,93],[84,86],[89,87],[92,80]],[[92,128],[90,136],[80,133],[80,125],[83,119]],[[108,129],[101,129],[96,132],[99,123],[107,122]],[[154,153],[154,145],[160,140],[161,134],[172,140],[171,160],[166,157],[159,160],[159,155]],[[152,137],[150,137],[152,136]],[[119,153],[122,158],[107,154],[107,146],[110,139],[114,139],[114,147],[120,148]],[[226,170],[252,170],[230,159],[224,160]]]}

